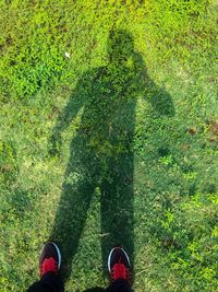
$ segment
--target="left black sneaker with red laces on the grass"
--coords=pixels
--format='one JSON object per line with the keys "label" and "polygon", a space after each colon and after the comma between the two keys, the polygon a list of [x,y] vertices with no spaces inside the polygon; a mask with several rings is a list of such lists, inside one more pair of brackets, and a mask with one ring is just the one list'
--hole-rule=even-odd
{"label": "left black sneaker with red laces on the grass", "polygon": [[58,273],[61,266],[61,253],[55,243],[44,245],[39,257],[40,278],[47,272]]}

